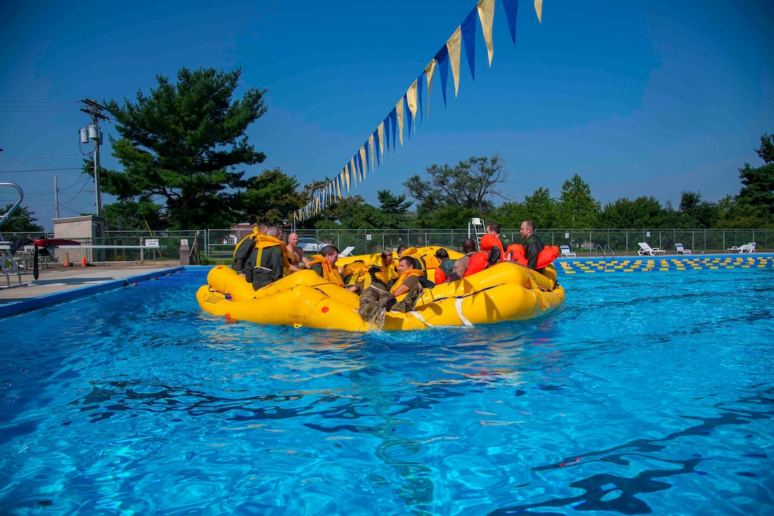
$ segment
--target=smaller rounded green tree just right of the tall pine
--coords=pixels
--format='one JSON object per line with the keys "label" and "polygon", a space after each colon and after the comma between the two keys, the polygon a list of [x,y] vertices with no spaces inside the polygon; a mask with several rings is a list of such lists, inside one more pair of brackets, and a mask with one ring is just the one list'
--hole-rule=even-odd
{"label": "smaller rounded green tree just right of the tall pine", "polygon": [[241,196],[240,220],[269,225],[289,223],[289,215],[292,216],[305,204],[298,187],[296,178],[283,174],[279,168],[264,170],[257,177],[250,177]]}

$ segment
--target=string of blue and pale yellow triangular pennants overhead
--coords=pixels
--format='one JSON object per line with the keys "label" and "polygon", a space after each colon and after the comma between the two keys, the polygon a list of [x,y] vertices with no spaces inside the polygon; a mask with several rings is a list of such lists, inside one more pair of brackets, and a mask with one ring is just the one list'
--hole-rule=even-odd
{"label": "string of blue and pale yellow triangular pennants overhead", "polygon": [[[516,43],[516,14],[519,10],[519,0],[502,0],[502,8],[505,11],[505,21],[508,24],[509,33],[513,44]],[[535,0],[535,12],[538,22],[543,22],[543,0]],[[385,161],[385,147],[389,155],[390,134],[392,133],[392,152],[397,150],[397,142],[403,146],[403,126],[406,126],[406,134],[411,138],[413,126],[416,134],[416,115],[423,119],[423,83],[427,84],[427,116],[430,117],[430,91],[433,89],[433,77],[436,71],[440,74],[441,95],[446,106],[446,86],[449,79],[449,69],[454,79],[454,98],[460,90],[460,65],[462,47],[467,58],[467,66],[471,71],[471,77],[475,80],[475,40],[476,18],[481,23],[481,33],[487,49],[489,66],[494,55],[492,45],[492,25],[495,19],[495,0],[478,0],[473,10],[465,16],[450,38],[440,47],[435,57],[430,60],[419,77],[409,86],[406,93],[389,111],[382,122],[368,136],[365,143],[349,158],[341,172],[334,176],[326,186],[314,194],[308,205],[295,213],[296,221],[301,222],[307,218],[313,218],[330,205],[344,198],[344,192],[349,194],[351,187],[357,187],[358,183],[365,180],[368,172],[375,173],[375,167],[381,167]]]}

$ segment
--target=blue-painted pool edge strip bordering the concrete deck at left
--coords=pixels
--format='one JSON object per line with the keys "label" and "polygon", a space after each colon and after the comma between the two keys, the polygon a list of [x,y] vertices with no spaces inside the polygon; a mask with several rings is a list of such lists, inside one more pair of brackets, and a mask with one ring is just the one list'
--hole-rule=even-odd
{"label": "blue-painted pool edge strip bordering the concrete deck at left", "polygon": [[[198,266],[203,267],[203,266]],[[207,266],[204,266],[207,267]],[[12,315],[19,315],[28,311],[37,310],[39,308],[45,308],[52,304],[59,304],[65,301],[71,301],[77,298],[84,298],[92,294],[98,294],[100,292],[112,291],[121,287],[126,287],[133,283],[139,283],[141,281],[149,280],[152,277],[159,275],[172,274],[180,272],[186,269],[195,269],[197,267],[164,267],[156,270],[145,270],[142,273],[138,273],[136,270],[122,269],[114,271],[111,275],[114,276],[108,280],[101,280],[95,284],[82,284],[73,288],[67,288],[58,292],[38,294],[23,298],[19,301],[7,301],[0,304],[0,318],[10,317]],[[128,276],[123,276],[125,273],[129,273]],[[87,281],[84,281],[87,283]],[[27,288],[27,287],[16,287]]]}

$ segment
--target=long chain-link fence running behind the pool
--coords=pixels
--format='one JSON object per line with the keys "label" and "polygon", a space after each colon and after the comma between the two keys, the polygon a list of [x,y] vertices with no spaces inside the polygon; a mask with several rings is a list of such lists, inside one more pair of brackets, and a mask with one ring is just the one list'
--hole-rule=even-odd
{"label": "long chain-link fence running behind the pool", "polygon": [[[106,236],[79,239],[84,245],[111,246],[111,249],[91,249],[87,260],[100,262],[148,262],[180,260],[180,242],[187,240],[190,263],[224,263],[231,260],[234,246],[252,232],[252,228],[195,229],[188,231],[148,232],[108,231]],[[338,249],[354,247],[352,254],[379,253],[382,249],[443,246],[460,250],[468,237],[467,229],[298,229],[300,238],[311,238],[329,243]],[[522,243],[519,229],[503,229],[502,235],[512,243]],[[578,256],[631,255],[637,253],[639,243],[675,251],[682,243],[694,254],[725,253],[732,246],[755,242],[756,249],[772,249],[772,229],[542,229],[538,236],[550,246],[570,246]],[[53,233],[4,233],[3,239],[54,238]],[[131,249],[122,246],[142,246],[145,239],[158,239],[160,249]],[[64,259],[58,249],[56,261]],[[72,260],[72,256],[70,257]],[[80,255],[78,257],[80,260]]]}

